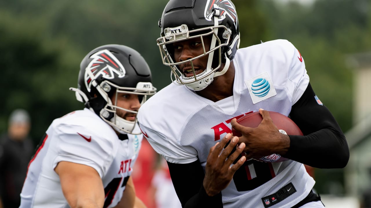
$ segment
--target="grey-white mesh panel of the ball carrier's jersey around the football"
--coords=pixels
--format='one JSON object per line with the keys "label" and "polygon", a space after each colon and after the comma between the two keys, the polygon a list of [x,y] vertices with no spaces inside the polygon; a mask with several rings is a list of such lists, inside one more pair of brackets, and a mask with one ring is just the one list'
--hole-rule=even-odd
{"label": "grey-white mesh panel of the ball carrier's jersey around the football", "polygon": [[[275,111],[286,116],[290,113],[291,95],[285,87],[275,86],[275,88],[277,92],[276,96],[267,98],[266,100],[260,101],[256,104],[252,103],[249,91],[245,88],[241,91],[237,110],[232,116],[217,110],[212,105],[200,107],[190,114],[184,122],[177,138],[178,144],[185,147],[195,148],[198,152],[198,158],[201,165],[205,168],[210,147],[217,142],[214,141],[215,134],[211,127],[224,123],[228,128],[231,128],[231,124],[226,123],[227,120],[250,111],[258,111],[259,108]],[[233,105],[233,102],[231,102],[231,104]],[[220,131],[221,130],[222,129],[220,129]],[[226,135],[226,133],[221,134],[220,139],[223,138],[224,135]],[[277,192],[289,182],[292,182],[296,192],[278,204],[271,206],[271,208],[291,207],[301,201],[301,199],[305,198],[306,194],[304,194],[304,192],[306,188],[306,179],[302,179],[305,174],[305,168],[302,167],[301,163],[288,160],[273,163],[272,167],[276,176],[250,191],[237,191],[234,181],[232,180],[229,186],[222,191],[223,207],[264,208],[262,198]],[[259,175],[257,175],[257,177],[259,177]]]}

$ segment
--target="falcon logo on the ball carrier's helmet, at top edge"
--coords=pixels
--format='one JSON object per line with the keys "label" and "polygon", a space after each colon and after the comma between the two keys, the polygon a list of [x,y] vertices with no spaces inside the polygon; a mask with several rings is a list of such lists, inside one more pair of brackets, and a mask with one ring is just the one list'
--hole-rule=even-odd
{"label": "falcon logo on the ball carrier's helmet, at top edge", "polygon": [[212,21],[214,16],[214,4],[216,4],[220,9],[220,16],[218,21],[224,20],[228,16],[234,22],[234,27],[237,28],[237,13],[234,9],[234,5],[230,0],[207,0],[205,7],[205,19]]}

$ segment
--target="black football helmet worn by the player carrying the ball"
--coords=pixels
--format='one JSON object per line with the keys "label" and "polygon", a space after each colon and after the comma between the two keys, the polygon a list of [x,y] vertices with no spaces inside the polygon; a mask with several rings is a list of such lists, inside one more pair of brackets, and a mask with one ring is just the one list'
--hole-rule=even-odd
{"label": "black football helmet worn by the player carrying the ball", "polygon": [[[239,48],[239,23],[236,8],[230,0],[170,0],[158,25],[161,27],[161,37],[157,39],[157,45],[162,62],[171,68],[171,80],[185,84],[191,90],[203,90],[214,77],[226,73]],[[210,48],[206,48],[208,46],[204,45],[203,40],[210,37]],[[201,39],[203,54],[176,62],[173,44],[191,38]],[[207,67],[196,75],[192,61],[202,56],[209,56]],[[178,67],[188,62],[193,70],[192,77],[185,77]],[[220,71],[222,63],[225,65]]]}

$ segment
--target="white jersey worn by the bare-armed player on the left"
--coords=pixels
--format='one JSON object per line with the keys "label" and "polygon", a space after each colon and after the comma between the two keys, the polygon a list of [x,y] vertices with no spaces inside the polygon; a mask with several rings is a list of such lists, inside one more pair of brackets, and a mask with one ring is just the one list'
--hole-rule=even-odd
{"label": "white jersey worn by the bare-armed player on the left", "polygon": [[104,208],[116,206],[143,138],[127,135],[128,139],[120,140],[110,125],[87,108],[55,119],[30,161],[20,208],[69,207],[54,171],[60,161],[94,168],[104,185]]}

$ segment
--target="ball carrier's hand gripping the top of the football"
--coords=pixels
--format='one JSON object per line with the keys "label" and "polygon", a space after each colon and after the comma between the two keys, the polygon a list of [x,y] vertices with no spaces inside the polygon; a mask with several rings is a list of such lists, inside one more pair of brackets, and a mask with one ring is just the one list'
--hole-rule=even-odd
{"label": "ball carrier's hand gripping the top of the football", "polygon": [[244,127],[237,123],[236,118],[231,121],[232,127],[241,132],[239,142],[244,142],[246,158],[264,157],[271,154],[285,155],[290,147],[288,135],[279,132],[269,112],[259,109],[263,120],[256,128]]}

